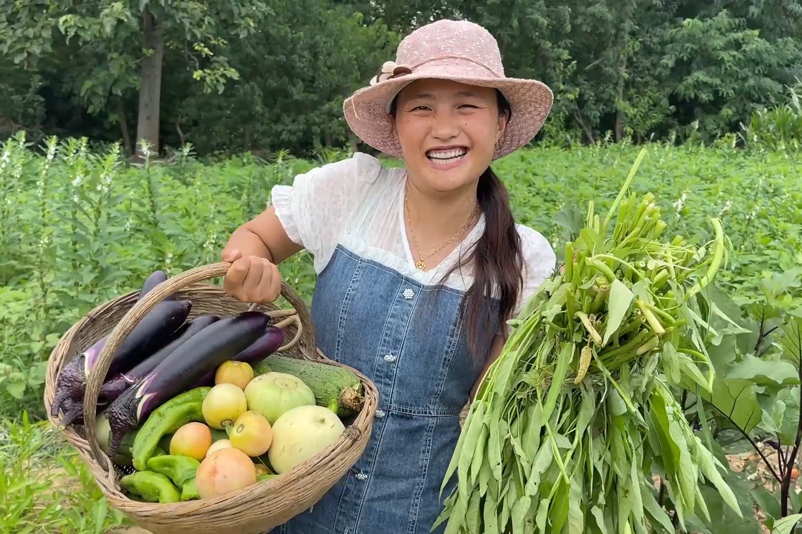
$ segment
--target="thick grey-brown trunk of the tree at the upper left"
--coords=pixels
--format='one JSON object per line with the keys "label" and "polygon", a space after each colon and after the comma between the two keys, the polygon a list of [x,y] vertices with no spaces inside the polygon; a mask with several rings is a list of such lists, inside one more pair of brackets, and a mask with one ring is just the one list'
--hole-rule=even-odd
{"label": "thick grey-brown trunk of the tree at the upper left", "polygon": [[158,21],[145,10],[142,14],[142,46],[150,53],[142,58],[140,70],[140,116],[136,122],[136,160],[144,159],[142,139],[148,142],[148,151],[159,154],[159,124],[161,105],[161,71],[164,58],[164,38]]}

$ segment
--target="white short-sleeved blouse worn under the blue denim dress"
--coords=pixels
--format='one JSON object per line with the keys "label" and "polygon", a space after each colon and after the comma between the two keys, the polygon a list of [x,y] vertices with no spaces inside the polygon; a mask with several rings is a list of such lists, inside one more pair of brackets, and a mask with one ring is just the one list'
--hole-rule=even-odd
{"label": "white short-sleeved blouse worn under the blue denim dress", "polygon": [[[448,258],[429,271],[415,267],[403,217],[406,171],[383,167],[379,159],[357,152],[353,157],[295,177],[293,184],[273,187],[273,208],[287,235],[314,256],[318,275],[341,245],[364,259],[381,263],[420,284],[440,283],[460,256],[470,252],[484,231],[484,215]],[[539,232],[516,224],[525,264],[517,315],[556,267],[549,241]],[[471,268],[461,267],[442,283],[467,291]]]}

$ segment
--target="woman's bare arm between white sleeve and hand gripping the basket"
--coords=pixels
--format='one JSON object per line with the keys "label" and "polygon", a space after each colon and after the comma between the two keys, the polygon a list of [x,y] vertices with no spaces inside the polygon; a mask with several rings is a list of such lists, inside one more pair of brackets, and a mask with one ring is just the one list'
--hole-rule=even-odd
{"label": "woman's bare arm between white sleeve and hand gripping the basket", "polygon": [[302,250],[302,245],[287,236],[276,211],[270,206],[233,232],[223,249],[223,259],[239,251],[243,257],[258,256],[277,265]]}

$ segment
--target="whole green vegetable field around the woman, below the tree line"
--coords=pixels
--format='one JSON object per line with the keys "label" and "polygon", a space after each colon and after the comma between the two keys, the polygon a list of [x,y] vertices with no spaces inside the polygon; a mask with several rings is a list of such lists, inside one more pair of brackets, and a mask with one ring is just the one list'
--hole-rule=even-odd
{"label": "whole green vegetable field around the woman, below the tree line", "polygon": [[[588,202],[597,213],[610,209],[639,150],[623,143],[537,148],[495,168],[517,219],[546,235],[562,261],[565,242],[585,224]],[[131,167],[114,148],[92,151],[79,139],[30,147],[18,137],[2,146],[0,493],[12,498],[0,532],[123,528],[71,449],[41,421],[47,355],[60,335],[99,303],[139,289],[152,271],[170,275],[218,261],[229,233],[265,207],[273,184],[342,157],[199,161],[184,153]],[[670,392],[687,428],[730,466],[723,480],[743,517],[715,484],[700,479],[715,529],[702,513],[685,520],[700,533],[792,532],[794,519],[780,518],[802,512],[795,467],[802,436],[799,155],[653,144],[631,190],[638,199],[654,195],[666,236],[710,244],[710,217],[721,220],[727,236],[726,262],[703,290],[711,313],[699,318],[715,369],[712,391],[688,383]],[[290,259],[281,271],[309,302],[310,258]],[[673,490],[666,480],[674,473],[666,480],[653,474],[654,502],[670,522]],[[666,532],[662,524],[652,528]]]}

